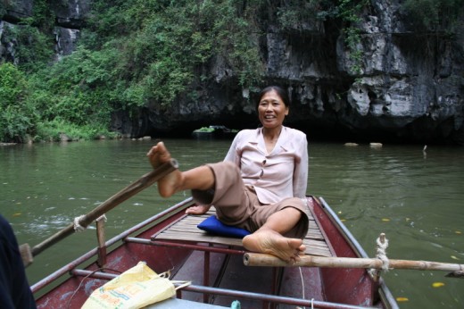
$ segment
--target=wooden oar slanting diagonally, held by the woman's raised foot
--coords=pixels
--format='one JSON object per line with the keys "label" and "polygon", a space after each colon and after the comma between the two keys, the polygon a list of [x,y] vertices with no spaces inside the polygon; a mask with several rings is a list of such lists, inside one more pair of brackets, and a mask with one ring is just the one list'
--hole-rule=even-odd
{"label": "wooden oar slanting diagonally, held by the woman's raised foot", "polygon": [[[114,196],[108,198],[104,203],[98,205],[93,211],[83,215],[79,218],[79,225],[82,228],[87,228],[88,224],[92,221],[95,221],[98,217],[107,213],[108,211],[112,210],[112,208],[120,205],[122,202],[127,200],[129,197],[136,195],[138,192],[143,190],[144,188],[150,187],[153,185],[154,182],[162,179],[162,177],[169,174],[171,171],[174,171],[178,168],[178,162],[175,159],[171,159],[170,162],[163,163],[158,168],[154,169],[146,173],[137,181],[133,182],[132,184],[128,185],[128,187],[123,188],[120,192],[116,193]],[[25,266],[28,266],[32,263],[33,256],[38,255],[42,251],[44,251],[47,247],[54,245],[58,241],[62,240],[70,236],[74,233],[75,227],[74,223],[71,223],[68,227],[60,230],[52,237],[47,238],[37,246],[33,246],[32,250],[30,249],[28,244],[24,244],[20,246],[21,257],[22,261]]]}

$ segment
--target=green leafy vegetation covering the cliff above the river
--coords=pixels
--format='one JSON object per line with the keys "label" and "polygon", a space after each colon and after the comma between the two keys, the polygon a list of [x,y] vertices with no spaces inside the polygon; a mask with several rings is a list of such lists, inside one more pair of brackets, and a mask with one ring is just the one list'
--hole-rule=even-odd
{"label": "green leafy vegetation covering the cliff above the river", "polygon": [[[0,0],[2,1],[2,0]],[[3,1],[9,4],[8,1]],[[406,0],[405,12],[427,29],[452,29],[464,0]],[[115,111],[166,109],[195,100],[224,63],[231,82],[258,88],[264,74],[260,25],[301,31],[330,22],[344,35],[352,71],[361,71],[360,17],[368,0],[95,0],[79,47],[53,61],[55,16],[47,0],[33,16],[4,27],[15,65],[0,63],[0,141],[112,137]],[[5,13],[0,5],[0,14]],[[450,16],[450,19],[447,19]]]}

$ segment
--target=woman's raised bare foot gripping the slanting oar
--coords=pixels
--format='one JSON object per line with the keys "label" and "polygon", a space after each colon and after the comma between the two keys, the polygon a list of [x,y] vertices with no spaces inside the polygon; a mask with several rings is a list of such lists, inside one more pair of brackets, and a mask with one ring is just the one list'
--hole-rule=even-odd
{"label": "woman's raised bare foot gripping the slanting oar", "polygon": [[[150,151],[146,154],[148,160],[153,166],[153,169],[156,169],[162,163],[169,162],[170,152],[166,149],[163,142],[159,142],[153,146]],[[168,175],[164,176],[161,180],[158,180],[158,191],[163,197],[172,196],[178,189],[181,187],[182,183],[182,173],[178,170],[171,171]]]}

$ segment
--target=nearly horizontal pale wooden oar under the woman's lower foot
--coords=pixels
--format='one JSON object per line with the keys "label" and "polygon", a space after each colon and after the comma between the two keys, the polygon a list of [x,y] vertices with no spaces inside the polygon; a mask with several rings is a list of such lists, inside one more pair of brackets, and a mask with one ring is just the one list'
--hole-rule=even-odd
{"label": "nearly horizontal pale wooden oar under the woman's lower foot", "polygon": [[[367,268],[382,269],[384,263],[376,258],[326,257],[301,255],[301,260],[294,264],[286,263],[274,255],[246,253],[246,266],[304,266],[329,268]],[[449,277],[464,277],[464,264],[439,263],[427,261],[389,260],[389,269],[406,269],[419,271],[452,271]]]}

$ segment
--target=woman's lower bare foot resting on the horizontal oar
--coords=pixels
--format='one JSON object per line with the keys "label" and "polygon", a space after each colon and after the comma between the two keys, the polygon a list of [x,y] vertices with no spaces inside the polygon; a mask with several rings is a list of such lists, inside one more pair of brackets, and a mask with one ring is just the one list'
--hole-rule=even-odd
{"label": "woman's lower bare foot resting on the horizontal oar", "polygon": [[275,230],[260,229],[247,235],[242,240],[244,247],[253,252],[275,255],[286,263],[300,261],[299,255],[304,255],[306,247],[302,239],[286,238]]}

